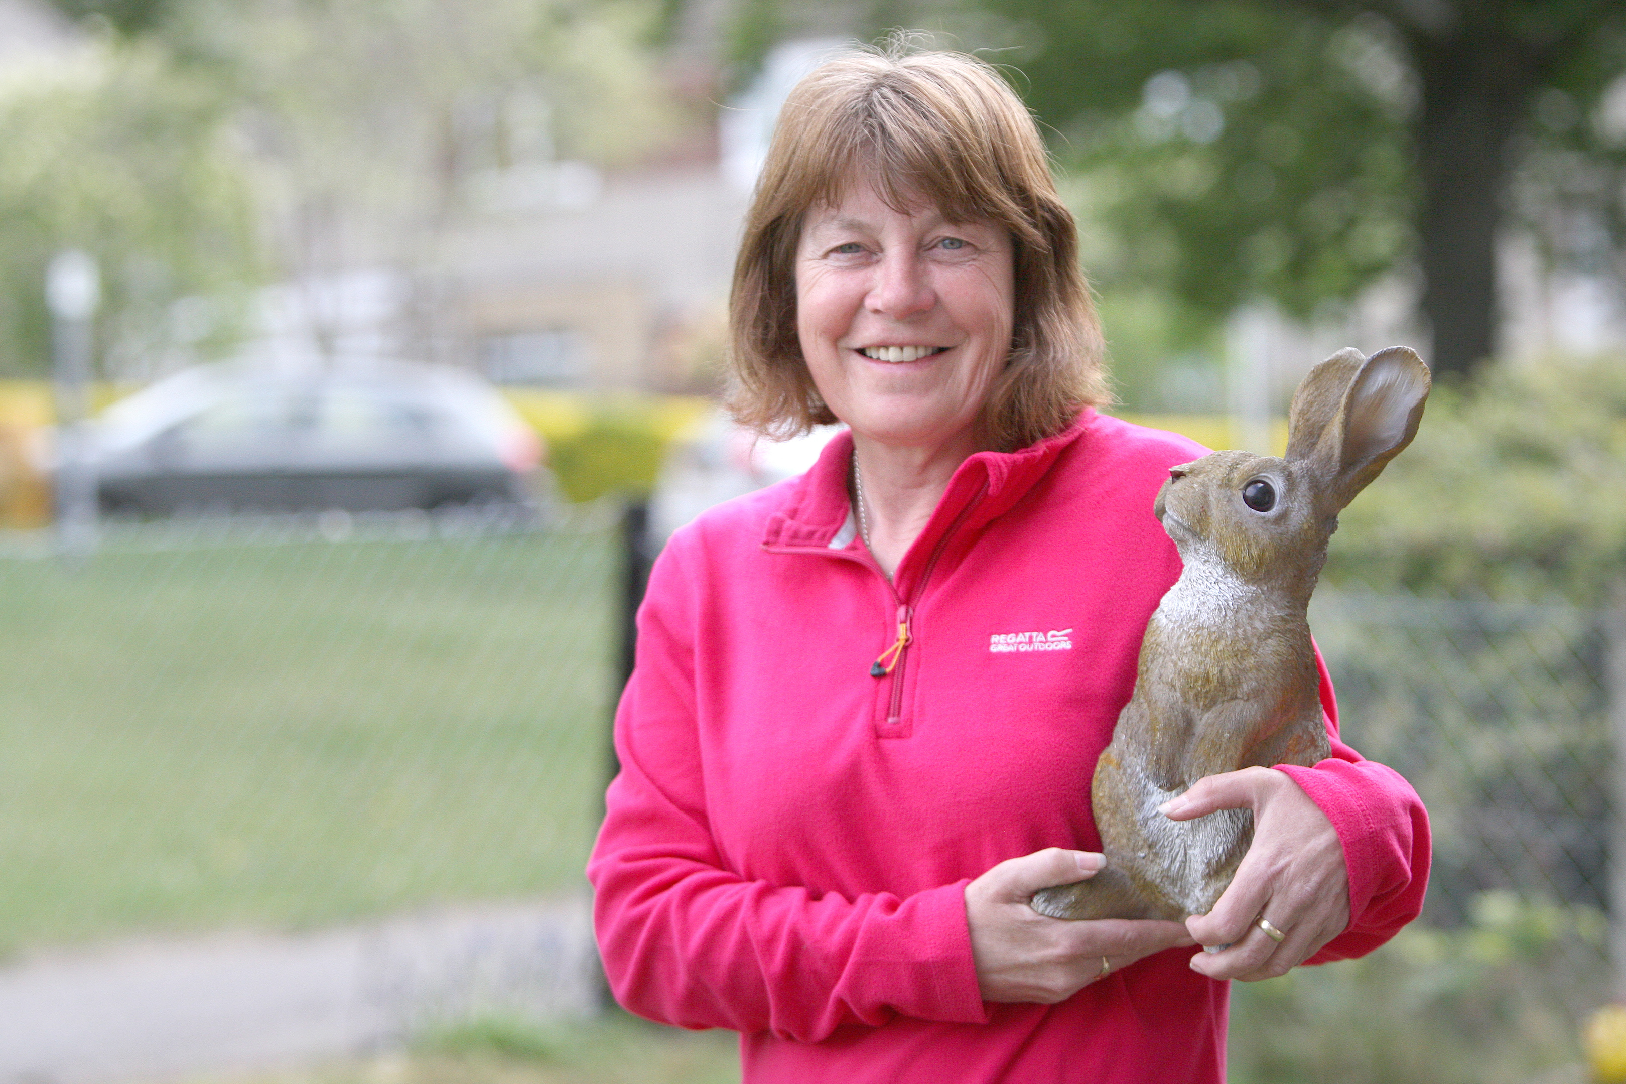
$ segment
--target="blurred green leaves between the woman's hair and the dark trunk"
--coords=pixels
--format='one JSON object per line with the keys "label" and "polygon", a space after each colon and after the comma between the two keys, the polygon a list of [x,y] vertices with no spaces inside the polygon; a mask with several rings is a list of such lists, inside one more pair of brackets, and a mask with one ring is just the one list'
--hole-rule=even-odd
{"label": "blurred green leaves between the woman's hair and the dark trunk", "polygon": [[1293,5],[987,7],[1031,21],[1028,101],[1115,239],[1091,270],[1220,317],[1307,317],[1410,252],[1402,60],[1382,28]]}

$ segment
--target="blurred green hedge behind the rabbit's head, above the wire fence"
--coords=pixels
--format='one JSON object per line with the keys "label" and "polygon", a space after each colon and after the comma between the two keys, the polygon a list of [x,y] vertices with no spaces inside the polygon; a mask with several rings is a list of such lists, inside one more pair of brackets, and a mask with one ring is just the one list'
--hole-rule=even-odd
{"label": "blurred green hedge behind the rabbit's head, above the wire fence", "polygon": [[1343,514],[1328,579],[1598,605],[1626,567],[1626,364],[1502,362],[1437,387]]}

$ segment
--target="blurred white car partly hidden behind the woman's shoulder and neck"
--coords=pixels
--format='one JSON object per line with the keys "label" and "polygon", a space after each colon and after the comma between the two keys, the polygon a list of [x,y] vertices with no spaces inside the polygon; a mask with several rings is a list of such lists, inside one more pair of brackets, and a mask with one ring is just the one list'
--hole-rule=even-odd
{"label": "blurred white car partly hidden behind the woman's shoulder and neck", "polygon": [[805,473],[842,426],[820,426],[790,440],[769,440],[712,411],[673,442],[655,478],[649,533],[655,548],[696,515],[732,497]]}

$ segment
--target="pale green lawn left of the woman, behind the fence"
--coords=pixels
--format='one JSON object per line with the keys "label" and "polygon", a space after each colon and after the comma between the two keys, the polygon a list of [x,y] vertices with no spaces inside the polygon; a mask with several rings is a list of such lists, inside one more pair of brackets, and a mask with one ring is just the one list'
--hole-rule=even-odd
{"label": "pale green lawn left of the woman, behind the fence", "polygon": [[0,952],[582,886],[606,531],[0,562]]}

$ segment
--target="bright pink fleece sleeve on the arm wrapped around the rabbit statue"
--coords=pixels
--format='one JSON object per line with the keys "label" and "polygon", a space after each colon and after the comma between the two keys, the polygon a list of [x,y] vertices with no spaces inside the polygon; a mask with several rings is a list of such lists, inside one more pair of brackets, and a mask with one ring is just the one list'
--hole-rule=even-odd
{"label": "bright pink fleece sleeve on the arm wrapped around the rabbit statue", "polygon": [[1338,705],[1320,652],[1320,699],[1332,756],[1314,767],[1278,764],[1332,821],[1350,874],[1350,926],[1306,964],[1366,956],[1423,912],[1429,826],[1423,800],[1400,772],[1338,739]]}

